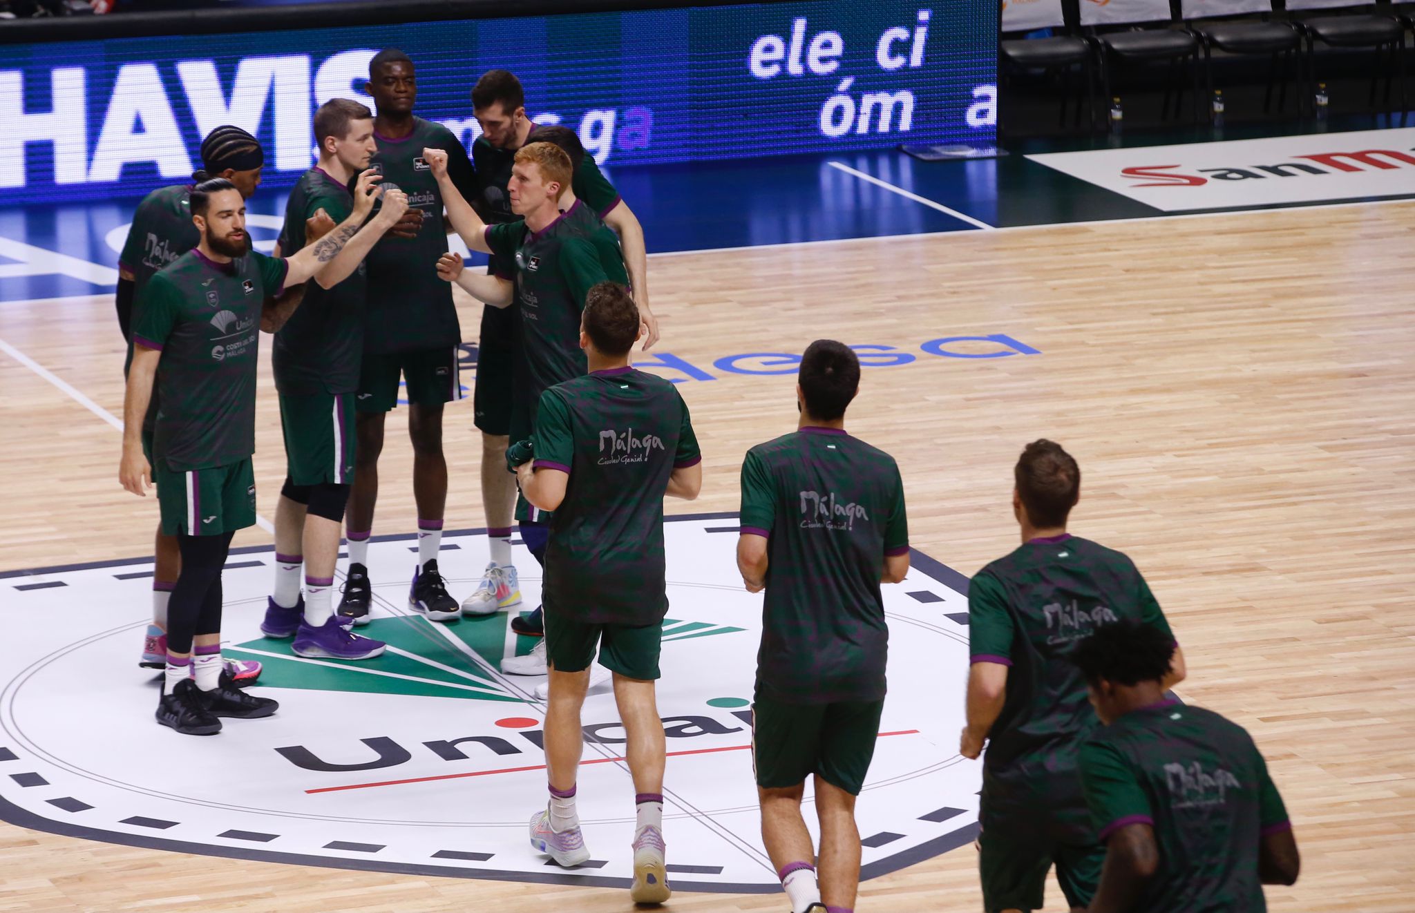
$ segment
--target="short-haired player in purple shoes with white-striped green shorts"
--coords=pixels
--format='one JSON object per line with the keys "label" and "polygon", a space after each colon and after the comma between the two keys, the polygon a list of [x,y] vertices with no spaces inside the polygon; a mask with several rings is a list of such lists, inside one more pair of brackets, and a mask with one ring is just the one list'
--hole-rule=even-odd
{"label": "short-haired player in purple shoes with white-striped green shorts", "polygon": [[[308,242],[307,219],[342,222],[354,213],[348,185],[376,151],[374,113],[350,99],[314,114],[320,161],[300,177],[284,209],[282,249]],[[331,594],[340,530],[354,478],[354,394],[364,352],[365,269],[330,290],[306,291],[300,310],[275,335],[275,386],[284,428],[286,476],[275,513],[275,592],[260,630],[294,635],[293,650],[311,659],[364,660],[383,643],[351,633],[334,616]],[[304,594],[300,571],[304,571]],[[366,622],[368,615],[352,618]]]}

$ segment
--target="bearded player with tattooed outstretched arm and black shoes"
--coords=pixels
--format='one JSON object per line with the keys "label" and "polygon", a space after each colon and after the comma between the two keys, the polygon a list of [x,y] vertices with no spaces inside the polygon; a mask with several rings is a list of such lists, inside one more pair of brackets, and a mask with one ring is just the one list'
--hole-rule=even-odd
{"label": "bearded player with tattooed outstretched arm and black shoes", "polygon": [[[188,198],[200,245],[160,270],[143,295],[133,325],[119,481],[143,496],[156,476],[163,531],[177,536],[181,551],[157,707],[157,721],[178,732],[211,735],[221,729],[218,717],[269,717],[276,709],[275,701],[228,687],[219,676],[221,568],[231,537],[256,519],[250,454],[258,325],[266,297],[310,277],[333,288],[402,216],[408,201],[395,191],[385,195],[379,216],[359,230],[372,209],[374,181],[365,172],[352,215],[289,259],[252,252],[236,185],[222,178],[204,181]],[[154,379],[163,408],[150,464],[140,431]]]}

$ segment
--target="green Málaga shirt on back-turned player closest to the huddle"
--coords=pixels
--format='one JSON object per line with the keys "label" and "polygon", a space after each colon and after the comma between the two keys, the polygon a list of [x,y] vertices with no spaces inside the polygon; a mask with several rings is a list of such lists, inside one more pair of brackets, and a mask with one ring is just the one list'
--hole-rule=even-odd
{"label": "green M\u00e1laga shirt on back-turned player closest to the huddle", "polygon": [[545,553],[548,612],[633,628],[664,620],[664,492],[702,459],[678,389],[633,367],[541,394],[536,469],[569,473]]}

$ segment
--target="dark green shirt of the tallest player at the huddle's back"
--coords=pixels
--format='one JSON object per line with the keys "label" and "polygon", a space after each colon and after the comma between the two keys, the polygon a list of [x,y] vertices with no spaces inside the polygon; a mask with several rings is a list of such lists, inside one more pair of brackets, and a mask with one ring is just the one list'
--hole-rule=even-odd
{"label": "dark green shirt of the tallest player at the huddle's back", "polygon": [[447,153],[447,172],[467,199],[475,195],[475,177],[467,150],[451,130],[413,119],[413,131],[402,139],[374,134],[374,164],[383,182],[408,194],[409,206],[423,212],[417,237],[383,235],[368,254],[366,352],[423,352],[461,343],[451,284],[437,278],[437,260],[447,253],[447,225],[441,191],[423,160],[424,148]]}

